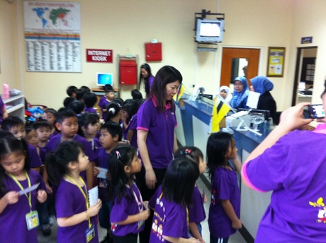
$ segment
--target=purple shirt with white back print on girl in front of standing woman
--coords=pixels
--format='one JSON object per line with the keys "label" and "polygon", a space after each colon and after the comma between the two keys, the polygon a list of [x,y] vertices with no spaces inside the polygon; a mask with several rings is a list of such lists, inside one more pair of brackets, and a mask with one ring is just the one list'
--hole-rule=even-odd
{"label": "purple shirt with white back print on girl in front of standing woman", "polygon": [[159,186],[152,198],[150,207],[154,208],[152,230],[150,231],[150,242],[168,242],[162,235],[169,237],[189,238],[186,207],[162,196],[162,187]]}

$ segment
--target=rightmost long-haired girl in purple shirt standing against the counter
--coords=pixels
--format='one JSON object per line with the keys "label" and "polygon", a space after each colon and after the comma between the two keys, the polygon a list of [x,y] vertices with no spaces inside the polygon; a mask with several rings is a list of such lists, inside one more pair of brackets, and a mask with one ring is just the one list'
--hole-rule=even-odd
{"label": "rightmost long-haired girl in purple shirt standing against the counter", "polygon": [[232,135],[211,134],[207,142],[207,165],[211,178],[211,201],[208,213],[210,242],[227,242],[230,235],[242,227],[240,189],[237,172],[241,170]]}

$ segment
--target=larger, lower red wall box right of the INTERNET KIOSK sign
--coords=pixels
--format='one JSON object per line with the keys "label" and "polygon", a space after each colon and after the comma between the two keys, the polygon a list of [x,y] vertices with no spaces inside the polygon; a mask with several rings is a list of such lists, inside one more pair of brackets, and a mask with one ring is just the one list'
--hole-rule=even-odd
{"label": "larger, lower red wall box right of the INTERNET KIOSK sign", "polygon": [[135,60],[120,61],[120,84],[121,85],[137,84],[137,62]]}

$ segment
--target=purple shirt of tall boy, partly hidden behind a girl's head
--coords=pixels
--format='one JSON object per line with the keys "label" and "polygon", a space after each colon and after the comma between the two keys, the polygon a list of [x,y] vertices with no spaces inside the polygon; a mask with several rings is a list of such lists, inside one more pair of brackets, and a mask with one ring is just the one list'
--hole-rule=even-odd
{"label": "purple shirt of tall boy, partly hidden behind a girl's head", "polygon": [[[50,139],[46,146],[47,153],[49,153],[50,151],[55,151],[57,149],[57,146],[59,146],[59,144],[61,143],[61,136],[61,134],[57,134]],[[77,141],[84,146],[85,155],[89,157],[89,162],[94,162],[96,160],[96,154],[91,149],[91,144],[89,143],[89,141],[86,140],[86,138],[83,138],[82,136],[76,134],[76,136],[74,136],[72,140]],[[80,175],[84,179],[86,179],[86,172],[83,171],[80,173]]]}

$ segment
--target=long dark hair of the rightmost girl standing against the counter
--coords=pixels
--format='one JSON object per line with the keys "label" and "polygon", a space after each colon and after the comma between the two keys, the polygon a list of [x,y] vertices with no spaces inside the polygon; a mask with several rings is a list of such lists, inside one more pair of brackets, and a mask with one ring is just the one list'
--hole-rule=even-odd
{"label": "long dark hair of the rightmost girl standing against the counter", "polygon": [[210,134],[207,141],[207,167],[210,177],[213,176],[215,170],[223,165],[227,165],[228,158],[226,157],[232,144],[231,134],[219,131],[214,134]]}

